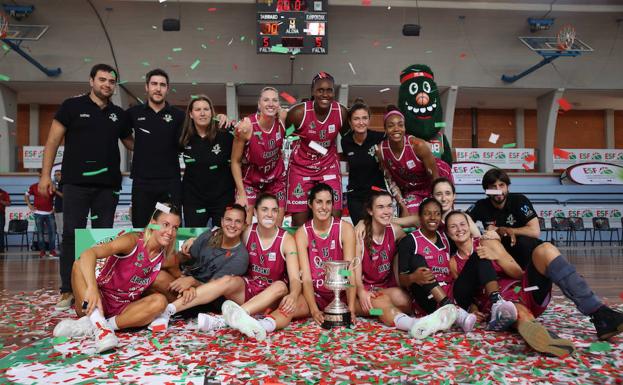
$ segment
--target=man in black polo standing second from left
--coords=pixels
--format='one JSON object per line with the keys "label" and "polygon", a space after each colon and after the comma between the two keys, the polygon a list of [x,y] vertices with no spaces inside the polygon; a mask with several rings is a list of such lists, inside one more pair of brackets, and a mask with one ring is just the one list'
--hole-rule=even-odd
{"label": "man in black polo standing second from left", "polygon": [[166,102],[169,75],[161,69],[145,75],[147,103],[128,109],[134,129],[132,226],[147,225],[157,202],[179,206],[182,199],[179,140],[184,111]]}

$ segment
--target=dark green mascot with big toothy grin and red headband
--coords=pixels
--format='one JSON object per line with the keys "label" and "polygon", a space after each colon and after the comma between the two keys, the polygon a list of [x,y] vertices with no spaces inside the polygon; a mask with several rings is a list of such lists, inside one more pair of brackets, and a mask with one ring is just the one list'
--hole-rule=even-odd
{"label": "dark green mascot with big toothy grin and red headband", "polygon": [[405,116],[407,134],[429,142],[433,155],[451,165],[452,149],[442,132],[439,90],[428,66],[413,64],[400,73],[398,108]]}

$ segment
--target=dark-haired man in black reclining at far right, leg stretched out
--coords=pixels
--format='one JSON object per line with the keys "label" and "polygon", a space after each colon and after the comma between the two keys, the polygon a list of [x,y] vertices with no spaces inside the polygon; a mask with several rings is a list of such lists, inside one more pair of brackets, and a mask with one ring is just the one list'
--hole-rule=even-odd
{"label": "dark-haired man in black reclining at far right, leg stretched out", "polygon": [[[486,230],[495,230],[500,235],[508,253],[525,270],[529,285],[535,287],[532,298],[536,304],[548,301],[553,282],[582,314],[591,317],[599,339],[622,333],[623,313],[604,305],[560,250],[538,239],[540,229],[532,203],[525,195],[509,193],[510,184],[503,170],[487,171],[482,178],[482,188],[489,198],[477,201],[467,213]],[[536,334],[542,332],[537,326],[529,330]]]}

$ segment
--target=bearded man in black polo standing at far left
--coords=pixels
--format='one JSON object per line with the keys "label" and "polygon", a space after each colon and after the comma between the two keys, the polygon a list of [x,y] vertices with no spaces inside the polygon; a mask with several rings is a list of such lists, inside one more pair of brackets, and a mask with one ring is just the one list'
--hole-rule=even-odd
{"label": "bearded man in black polo standing at far left", "polygon": [[97,64],[91,69],[89,84],[88,94],[65,100],[56,112],[43,151],[39,191],[54,192],[50,171],[65,139],[61,299],[57,308],[68,308],[73,301],[74,230],[85,228],[89,216],[93,227],[112,227],[121,189],[119,139],[128,149],[133,147],[127,114],[110,101],[117,84],[116,71]]}

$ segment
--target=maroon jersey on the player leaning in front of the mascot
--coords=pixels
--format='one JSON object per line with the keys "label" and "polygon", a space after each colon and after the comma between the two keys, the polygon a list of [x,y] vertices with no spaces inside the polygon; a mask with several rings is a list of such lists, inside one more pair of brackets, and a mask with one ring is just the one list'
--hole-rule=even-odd
{"label": "maroon jersey on the player leaning in front of the mascot", "polygon": [[381,142],[381,157],[383,158],[385,169],[401,190],[430,189],[431,177],[426,171],[424,163],[415,155],[409,138],[411,138],[410,135],[405,135],[404,147],[398,158],[396,158],[389,147],[389,139]]}

